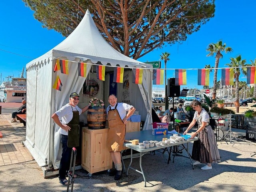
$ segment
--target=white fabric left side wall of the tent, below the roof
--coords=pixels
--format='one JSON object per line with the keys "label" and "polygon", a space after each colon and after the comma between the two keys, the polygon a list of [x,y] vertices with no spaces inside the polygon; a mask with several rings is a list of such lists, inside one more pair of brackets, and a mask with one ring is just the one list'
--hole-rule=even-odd
{"label": "white fabric left side wall of the tent, below the roof", "polygon": [[25,145],[40,166],[46,165],[49,155],[52,78],[47,77],[51,72],[52,62],[49,61],[40,63],[27,73]]}

